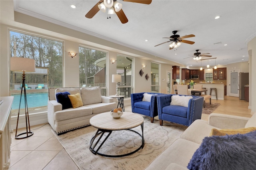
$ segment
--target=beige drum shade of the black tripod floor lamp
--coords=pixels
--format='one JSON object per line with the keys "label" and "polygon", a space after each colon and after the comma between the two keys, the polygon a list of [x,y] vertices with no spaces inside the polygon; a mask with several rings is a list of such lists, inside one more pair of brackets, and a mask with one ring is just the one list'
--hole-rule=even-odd
{"label": "beige drum shade of the black tripod floor lamp", "polygon": [[28,59],[23,57],[11,57],[10,58],[11,71],[18,72],[35,72],[36,61],[34,59]]}

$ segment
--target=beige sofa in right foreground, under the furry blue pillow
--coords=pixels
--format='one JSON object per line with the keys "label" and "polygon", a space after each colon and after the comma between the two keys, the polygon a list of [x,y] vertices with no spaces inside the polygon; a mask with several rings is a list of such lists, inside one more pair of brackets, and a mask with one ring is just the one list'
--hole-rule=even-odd
{"label": "beige sofa in right foreground, under the furry blue pillow", "polygon": [[[187,170],[194,152],[204,137],[215,129],[241,129],[256,127],[256,113],[251,118],[211,113],[209,121],[197,119],[177,139],[156,157],[146,170]],[[254,167],[255,168],[255,167]]]}

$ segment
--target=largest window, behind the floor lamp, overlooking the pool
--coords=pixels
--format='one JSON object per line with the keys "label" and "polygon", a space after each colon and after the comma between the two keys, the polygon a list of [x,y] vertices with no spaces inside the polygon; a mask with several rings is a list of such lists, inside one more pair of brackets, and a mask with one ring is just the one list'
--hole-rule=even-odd
{"label": "largest window, behind the floor lamp, overlooking the pool", "polygon": [[[9,31],[10,57],[24,57],[36,61],[36,72],[27,73],[25,83],[28,111],[47,110],[49,87],[62,87],[63,43],[60,41]],[[22,84],[21,72],[10,72],[10,96],[14,96],[11,115],[18,114],[20,91]],[[24,102],[24,95],[22,95]],[[21,103],[20,113],[25,113]]]}

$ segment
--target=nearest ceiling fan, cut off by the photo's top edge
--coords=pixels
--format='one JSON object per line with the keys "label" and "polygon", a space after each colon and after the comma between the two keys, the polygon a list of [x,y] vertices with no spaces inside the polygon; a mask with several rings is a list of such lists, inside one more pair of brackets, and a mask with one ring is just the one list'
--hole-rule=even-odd
{"label": "nearest ceiling fan, cut off by the photo's top edge", "polygon": [[[135,2],[140,4],[150,4],[152,0],[122,0],[124,2]],[[116,14],[119,20],[122,23],[127,23],[128,19],[126,18],[124,11],[122,10],[122,4],[117,2],[117,0],[100,0],[92,9],[85,15],[86,18],[92,18],[97,14],[99,10],[106,12],[108,14]],[[110,17],[109,17],[110,18]]]}

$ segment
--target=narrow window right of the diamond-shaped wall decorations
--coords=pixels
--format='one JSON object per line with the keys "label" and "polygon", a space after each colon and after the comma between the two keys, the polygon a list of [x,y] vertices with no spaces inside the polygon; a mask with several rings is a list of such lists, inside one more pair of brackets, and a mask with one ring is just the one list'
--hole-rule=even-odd
{"label": "narrow window right of the diamond-shaped wall decorations", "polygon": [[159,93],[159,64],[151,63],[151,92]]}

